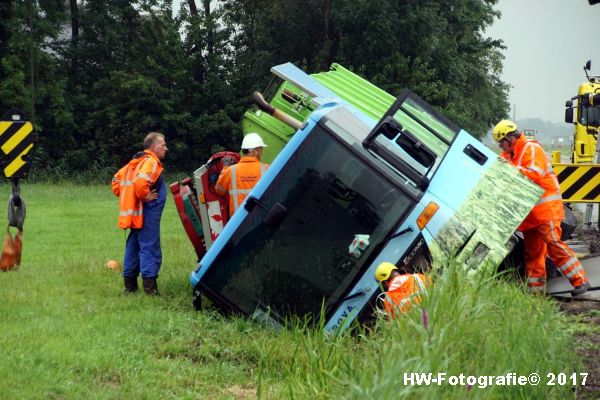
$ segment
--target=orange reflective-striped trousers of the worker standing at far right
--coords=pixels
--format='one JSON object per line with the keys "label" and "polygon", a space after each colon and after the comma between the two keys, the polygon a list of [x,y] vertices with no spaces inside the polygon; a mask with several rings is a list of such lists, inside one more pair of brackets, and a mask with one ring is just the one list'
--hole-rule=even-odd
{"label": "orange reflective-striped trousers of the worker standing at far right", "polygon": [[548,221],[523,232],[525,237],[525,272],[527,286],[532,293],[546,290],[546,256],[571,285],[588,282],[585,270],[573,250],[560,240],[560,221]]}

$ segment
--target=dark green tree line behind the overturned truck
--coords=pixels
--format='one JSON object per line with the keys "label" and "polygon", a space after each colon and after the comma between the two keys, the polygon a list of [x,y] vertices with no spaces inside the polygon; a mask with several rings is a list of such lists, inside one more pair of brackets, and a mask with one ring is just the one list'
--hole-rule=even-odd
{"label": "dark green tree line behind the overturned truck", "polygon": [[169,168],[237,149],[269,69],[337,62],[391,94],[408,87],[476,136],[508,114],[497,0],[7,0],[0,114],[39,135],[35,168],[116,168],[145,133]]}

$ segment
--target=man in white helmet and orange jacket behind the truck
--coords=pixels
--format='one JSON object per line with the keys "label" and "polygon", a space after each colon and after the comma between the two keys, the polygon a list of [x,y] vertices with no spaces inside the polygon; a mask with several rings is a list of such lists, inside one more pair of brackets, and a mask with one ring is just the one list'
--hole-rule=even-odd
{"label": "man in white helmet and orange jacket behind the truck", "polygon": [[229,216],[242,205],[250,190],[269,168],[260,162],[265,142],[257,133],[249,133],[242,141],[242,158],[235,164],[223,168],[215,190],[220,196],[229,194]]}

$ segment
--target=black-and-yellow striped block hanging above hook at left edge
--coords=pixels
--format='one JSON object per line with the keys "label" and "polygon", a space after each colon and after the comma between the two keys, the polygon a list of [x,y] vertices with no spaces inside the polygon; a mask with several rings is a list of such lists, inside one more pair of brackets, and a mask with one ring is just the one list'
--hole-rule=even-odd
{"label": "black-and-yellow striped block hanging above hook at left edge", "polygon": [[0,171],[5,177],[27,177],[35,136],[29,121],[0,121]]}

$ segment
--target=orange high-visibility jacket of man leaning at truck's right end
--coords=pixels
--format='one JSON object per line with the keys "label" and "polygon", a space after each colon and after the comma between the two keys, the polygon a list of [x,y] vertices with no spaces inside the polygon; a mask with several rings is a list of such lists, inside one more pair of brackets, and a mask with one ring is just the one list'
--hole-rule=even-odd
{"label": "orange high-visibility jacket of man leaning at truck's right end", "polygon": [[542,146],[535,140],[526,139],[521,135],[516,143],[514,152],[502,152],[502,157],[519,168],[519,171],[532,182],[544,189],[544,194],[533,207],[529,215],[521,223],[518,230],[526,231],[548,221],[560,221],[565,218],[562,196],[552,164]]}

